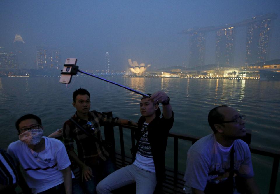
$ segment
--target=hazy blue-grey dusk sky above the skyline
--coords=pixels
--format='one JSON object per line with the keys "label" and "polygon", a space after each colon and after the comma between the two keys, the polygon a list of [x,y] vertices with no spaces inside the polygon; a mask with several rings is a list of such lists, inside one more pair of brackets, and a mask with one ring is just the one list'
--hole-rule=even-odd
{"label": "hazy blue-grey dusk sky above the skyline", "polygon": [[[20,34],[34,66],[36,46],[60,47],[62,63],[78,59],[81,69],[128,70],[127,59],[151,70],[188,65],[189,35],[177,32],[276,13],[269,59],[280,58],[280,1],[0,1],[0,46],[10,50]],[[246,27],[236,31],[234,64],[244,64]],[[215,62],[215,33],[206,37],[205,64]]]}

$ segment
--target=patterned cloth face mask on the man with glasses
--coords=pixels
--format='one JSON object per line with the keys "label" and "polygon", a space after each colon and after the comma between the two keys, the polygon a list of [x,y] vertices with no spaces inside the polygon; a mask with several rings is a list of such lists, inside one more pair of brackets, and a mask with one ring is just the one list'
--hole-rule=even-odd
{"label": "patterned cloth face mask on the man with glasses", "polygon": [[21,133],[18,138],[28,145],[38,144],[43,137],[43,129],[31,129]]}

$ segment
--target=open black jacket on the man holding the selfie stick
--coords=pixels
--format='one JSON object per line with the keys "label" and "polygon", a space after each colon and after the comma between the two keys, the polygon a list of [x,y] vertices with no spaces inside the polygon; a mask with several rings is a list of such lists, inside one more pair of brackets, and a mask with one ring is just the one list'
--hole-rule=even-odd
{"label": "open black jacket on the man holding the selfie stick", "polygon": [[[138,121],[138,128],[134,131],[135,139],[137,143],[133,149],[133,159],[134,162],[136,157],[136,152],[139,146],[139,140],[142,136],[142,126],[145,122],[145,117],[140,117]],[[148,125],[148,138],[152,150],[153,160],[155,164],[155,173],[157,177],[157,182],[163,182],[165,180],[165,150],[167,144],[167,137],[169,130],[172,128],[174,122],[174,113],[172,111],[172,116],[170,119],[165,119],[164,117],[156,117]]]}

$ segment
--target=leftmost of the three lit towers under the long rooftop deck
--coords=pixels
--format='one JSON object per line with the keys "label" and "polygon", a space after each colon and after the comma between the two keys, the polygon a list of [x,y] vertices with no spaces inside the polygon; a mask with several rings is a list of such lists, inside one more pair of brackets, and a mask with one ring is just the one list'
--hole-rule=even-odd
{"label": "leftmost of the three lit towers under the long rooftop deck", "polygon": [[205,33],[193,32],[190,34],[189,67],[204,65],[205,60]]}

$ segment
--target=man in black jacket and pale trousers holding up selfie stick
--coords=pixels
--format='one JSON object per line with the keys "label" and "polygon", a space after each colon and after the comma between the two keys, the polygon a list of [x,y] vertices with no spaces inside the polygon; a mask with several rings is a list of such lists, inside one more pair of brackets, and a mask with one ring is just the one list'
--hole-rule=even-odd
{"label": "man in black jacket and pale trousers holding up selfie stick", "polygon": [[[125,166],[97,185],[98,194],[136,183],[136,194],[153,194],[165,180],[165,150],[169,130],[173,126],[174,113],[170,98],[163,91],[143,96],[140,101],[141,117],[135,130],[136,146],[133,149],[132,164]],[[162,104],[162,117],[159,108]],[[157,191],[160,192],[160,191]]]}

